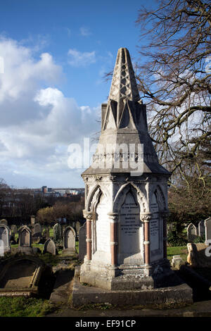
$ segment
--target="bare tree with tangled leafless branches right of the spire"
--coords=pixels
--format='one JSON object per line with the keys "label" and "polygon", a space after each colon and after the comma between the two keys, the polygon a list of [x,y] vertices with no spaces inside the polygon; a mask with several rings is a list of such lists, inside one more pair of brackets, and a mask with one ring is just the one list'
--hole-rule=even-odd
{"label": "bare tree with tangled leafless branches right of the spire", "polygon": [[210,144],[210,9],[202,0],[160,0],[154,10],[142,7],[136,21],[145,43],[136,78],[160,161],[173,178],[188,181],[194,171],[204,183],[209,170],[200,161]]}

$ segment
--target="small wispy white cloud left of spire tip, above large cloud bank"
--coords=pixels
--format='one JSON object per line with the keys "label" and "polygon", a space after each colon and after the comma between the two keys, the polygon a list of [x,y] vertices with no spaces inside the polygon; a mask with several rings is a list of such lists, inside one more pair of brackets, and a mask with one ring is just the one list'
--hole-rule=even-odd
{"label": "small wispy white cloud left of spire tip, above large cloud bank", "polygon": [[89,65],[96,62],[95,51],[81,52],[77,51],[77,49],[69,49],[68,56],[68,63],[76,67]]}

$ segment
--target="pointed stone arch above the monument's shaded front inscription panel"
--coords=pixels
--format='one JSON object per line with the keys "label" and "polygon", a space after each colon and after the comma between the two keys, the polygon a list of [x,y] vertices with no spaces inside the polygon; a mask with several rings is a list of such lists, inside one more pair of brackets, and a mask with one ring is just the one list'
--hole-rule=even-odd
{"label": "pointed stone arch above the monument's shaded front inscription panel", "polygon": [[141,192],[141,189],[139,189],[139,187],[134,185],[134,183],[132,182],[128,182],[127,184],[124,184],[122,185],[122,187],[120,187],[114,199],[113,211],[115,213],[118,213],[120,211],[120,208],[124,202],[124,198],[129,192],[129,190],[132,191],[135,200],[138,202],[140,211],[148,211],[148,201],[146,199],[146,196],[143,194],[143,192]]}

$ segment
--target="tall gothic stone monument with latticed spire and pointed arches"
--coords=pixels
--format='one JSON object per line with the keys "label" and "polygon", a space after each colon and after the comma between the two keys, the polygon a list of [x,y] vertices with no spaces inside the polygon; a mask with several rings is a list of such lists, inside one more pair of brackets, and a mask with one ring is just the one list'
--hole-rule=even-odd
{"label": "tall gothic stone monument with latticed spire and pointed arches", "polygon": [[[81,284],[124,292],[153,289],[172,275],[167,260],[169,177],[148,134],[129,51],[119,49],[108,104],[102,105],[101,137],[91,166],[82,173],[87,255],[79,270]],[[73,290],[72,303],[78,298]]]}

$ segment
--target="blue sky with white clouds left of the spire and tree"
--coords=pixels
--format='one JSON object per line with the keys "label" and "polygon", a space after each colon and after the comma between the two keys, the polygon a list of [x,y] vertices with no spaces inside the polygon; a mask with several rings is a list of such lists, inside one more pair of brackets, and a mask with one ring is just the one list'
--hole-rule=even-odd
{"label": "blue sky with white clouds left of the spire and tree", "polygon": [[[100,130],[110,82],[127,47],[139,57],[145,1],[7,0],[0,13],[0,177],[15,187],[84,187],[70,144]],[[92,143],[92,140],[91,140]]]}

